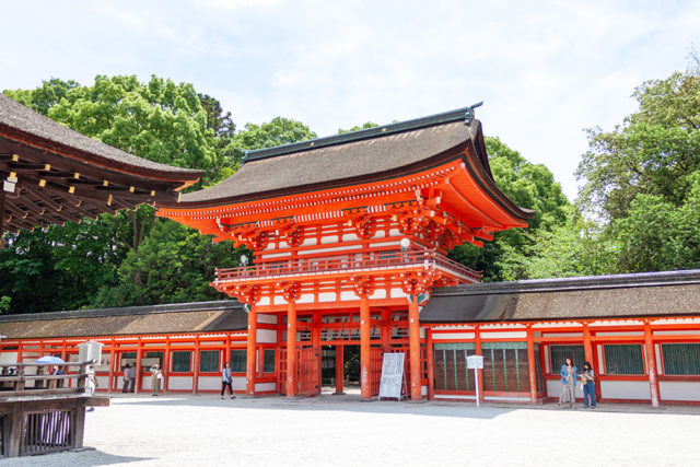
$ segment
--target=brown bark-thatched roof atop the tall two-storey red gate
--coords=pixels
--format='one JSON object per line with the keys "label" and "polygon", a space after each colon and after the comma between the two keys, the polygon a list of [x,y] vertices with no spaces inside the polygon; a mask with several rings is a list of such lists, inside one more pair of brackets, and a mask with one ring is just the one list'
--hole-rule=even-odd
{"label": "brown bark-thatched roof atop the tall two-storey red gate", "polygon": [[[491,198],[520,219],[517,208],[493,183],[481,124],[465,122],[469,107],[350,133],[250,151],[224,182],[184,195],[179,209],[253,201],[275,196],[349,187],[424,171],[462,157]],[[475,157],[465,157],[466,151]]]}

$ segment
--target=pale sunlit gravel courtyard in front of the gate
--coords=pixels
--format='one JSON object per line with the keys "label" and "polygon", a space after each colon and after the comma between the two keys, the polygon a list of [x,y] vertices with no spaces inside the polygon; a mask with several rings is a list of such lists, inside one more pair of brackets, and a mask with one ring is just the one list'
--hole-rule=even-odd
{"label": "pale sunlit gravel courtyard in front of the gate", "polygon": [[303,400],[119,395],[112,407],[86,417],[85,446],[94,451],[0,465],[689,466],[700,458],[696,408],[570,411],[360,402],[354,395]]}

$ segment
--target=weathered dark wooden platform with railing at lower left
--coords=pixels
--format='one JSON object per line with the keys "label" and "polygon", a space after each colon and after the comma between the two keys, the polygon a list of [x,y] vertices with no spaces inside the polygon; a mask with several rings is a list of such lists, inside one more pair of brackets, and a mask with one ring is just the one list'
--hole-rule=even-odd
{"label": "weathered dark wooden platform with railing at lower left", "polygon": [[[0,427],[3,457],[67,451],[83,445],[86,406],[108,406],[109,398],[85,393],[88,367],[94,362],[66,363],[79,366],[77,374],[27,375],[27,367],[50,363],[14,363],[16,374],[0,375]],[[75,380],[72,387],[69,381]],[[27,387],[34,382],[34,387]],[[37,384],[38,383],[38,384]]]}

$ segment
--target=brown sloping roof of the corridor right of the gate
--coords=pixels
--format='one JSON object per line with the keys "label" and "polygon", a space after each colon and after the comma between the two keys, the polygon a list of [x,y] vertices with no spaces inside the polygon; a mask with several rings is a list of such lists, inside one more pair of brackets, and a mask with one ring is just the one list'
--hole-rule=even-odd
{"label": "brown sloping roof of the corridor right of the gate", "polygon": [[700,315],[700,270],[436,289],[420,322],[471,323]]}

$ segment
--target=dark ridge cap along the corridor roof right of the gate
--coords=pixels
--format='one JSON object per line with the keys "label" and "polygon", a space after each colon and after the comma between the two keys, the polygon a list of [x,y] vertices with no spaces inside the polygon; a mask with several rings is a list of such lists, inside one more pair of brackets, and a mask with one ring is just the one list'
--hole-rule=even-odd
{"label": "dark ridge cap along the corridor roof right of the gate", "polygon": [[575,278],[528,279],[512,282],[481,282],[435,289],[433,296],[567,292],[578,290],[688,285],[699,283],[700,269],[689,269],[634,272],[628,275],[584,276]]}

